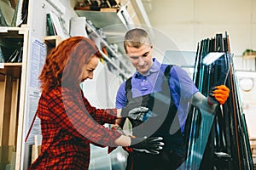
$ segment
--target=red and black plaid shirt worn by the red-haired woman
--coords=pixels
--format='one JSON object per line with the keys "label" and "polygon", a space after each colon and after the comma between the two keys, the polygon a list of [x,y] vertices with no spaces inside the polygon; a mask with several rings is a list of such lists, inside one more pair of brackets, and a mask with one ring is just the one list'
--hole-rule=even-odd
{"label": "red and black plaid shirt worn by the red-haired woman", "polygon": [[114,123],[116,110],[92,107],[84,94],[67,88],[43,93],[37,115],[41,120],[41,154],[29,169],[87,169],[90,143],[115,145],[120,133],[102,125]]}

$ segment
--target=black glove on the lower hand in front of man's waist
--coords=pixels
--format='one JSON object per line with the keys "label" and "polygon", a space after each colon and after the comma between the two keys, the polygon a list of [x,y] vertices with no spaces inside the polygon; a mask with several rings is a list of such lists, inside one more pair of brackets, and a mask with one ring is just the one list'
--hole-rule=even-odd
{"label": "black glove on the lower hand in front of man's waist", "polygon": [[131,148],[140,152],[157,155],[160,153],[160,150],[163,149],[163,145],[165,145],[165,143],[162,137],[131,137]]}

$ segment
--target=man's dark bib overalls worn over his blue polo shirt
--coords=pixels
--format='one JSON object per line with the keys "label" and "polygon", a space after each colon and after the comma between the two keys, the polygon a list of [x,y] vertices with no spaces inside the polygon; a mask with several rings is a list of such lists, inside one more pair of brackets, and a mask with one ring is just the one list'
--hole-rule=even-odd
{"label": "man's dark bib overalls worn over his blue polo shirt", "polygon": [[[167,66],[164,75],[158,77],[161,91],[154,94],[147,94],[137,98],[131,95],[131,78],[126,81],[125,92],[126,105],[142,105],[151,111],[144,122],[129,119],[132,125],[132,133],[136,137],[161,136],[164,138],[164,148],[158,155],[151,155],[133,150],[129,152],[126,169],[176,169],[184,160],[186,155],[184,136],[181,132],[177,119],[177,108],[173,103],[169,90],[168,80],[172,65]],[[170,133],[173,124],[175,133]]]}

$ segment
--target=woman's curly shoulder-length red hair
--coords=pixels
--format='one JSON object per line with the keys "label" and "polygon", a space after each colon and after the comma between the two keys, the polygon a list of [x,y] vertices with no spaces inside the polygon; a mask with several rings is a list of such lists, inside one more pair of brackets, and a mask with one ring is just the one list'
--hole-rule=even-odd
{"label": "woman's curly shoulder-length red hair", "polygon": [[49,92],[63,85],[62,82],[65,82],[66,86],[78,86],[82,69],[93,56],[102,58],[95,43],[87,37],[69,37],[62,41],[45,59],[39,76],[40,88]]}

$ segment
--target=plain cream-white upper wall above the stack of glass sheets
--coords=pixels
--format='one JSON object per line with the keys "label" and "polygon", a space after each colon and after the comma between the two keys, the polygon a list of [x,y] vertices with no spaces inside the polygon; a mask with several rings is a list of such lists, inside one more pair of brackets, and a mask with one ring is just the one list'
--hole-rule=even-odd
{"label": "plain cream-white upper wall above the stack of glass sheets", "polygon": [[225,31],[235,55],[247,48],[256,50],[255,0],[151,0],[151,4],[151,25],[183,51],[195,51],[197,42]]}

